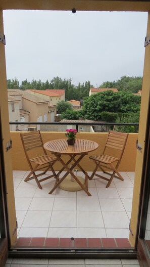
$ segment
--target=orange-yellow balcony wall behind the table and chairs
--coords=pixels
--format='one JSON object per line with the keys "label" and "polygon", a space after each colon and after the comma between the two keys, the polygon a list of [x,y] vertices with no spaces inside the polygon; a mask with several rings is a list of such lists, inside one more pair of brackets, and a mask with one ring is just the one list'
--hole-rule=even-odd
{"label": "orange-yellow balcony wall behind the table and chairs", "polygon": [[[12,164],[13,170],[29,170],[29,166],[25,157],[25,153],[23,150],[23,146],[21,143],[20,132],[12,131],[11,133],[12,140]],[[62,139],[66,138],[64,132],[41,132],[43,143],[49,140]],[[77,138],[92,140],[99,144],[98,149],[93,152],[90,152],[87,156],[85,156],[82,160],[82,166],[86,171],[92,171],[94,168],[94,163],[89,159],[90,155],[98,155],[101,154],[106,143],[108,133],[99,132],[99,133],[77,133]],[[136,140],[138,139],[137,133],[129,133],[129,137],[127,140],[125,152],[119,166],[120,171],[135,171],[135,161],[136,161]],[[49,153],[50,154],[50,153]],[[32,157],[37,155],[37,151],[32,154]],[[115,155],[117,157],[117,154]],[[63,156],[67,157],[68,156]],[[68,157],[69,159],[69,157]],[[57,162],[54,165],[55,170],[60,170],[62,165]]]}

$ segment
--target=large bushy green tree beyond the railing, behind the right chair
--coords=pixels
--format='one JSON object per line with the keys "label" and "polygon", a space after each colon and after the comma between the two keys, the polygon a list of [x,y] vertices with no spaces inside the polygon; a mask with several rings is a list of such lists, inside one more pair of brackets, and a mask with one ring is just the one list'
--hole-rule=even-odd
{"label": "large bushy green tree beyond the railing, behind the right chair", "polygon": [[101,112],[138,112],[140,96],[131,93],[112,91],[100,92],[84,99],[81,116],[85,119],[99,120]]}

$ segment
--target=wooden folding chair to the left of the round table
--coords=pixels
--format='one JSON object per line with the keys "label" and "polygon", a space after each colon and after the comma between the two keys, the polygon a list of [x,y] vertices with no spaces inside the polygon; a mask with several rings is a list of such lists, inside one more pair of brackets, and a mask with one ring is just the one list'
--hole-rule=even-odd
{"label": "wooden folding chair to the left of the round table", "polygon": [[[47,155],[45,149],[43,148],[43,142],[42,138],[40,135],[40,131],[32,131],[32,132],[26,132],[26,133],[20,133],[21,141],[23,144],[24,152],[27,158],[27,161],[30,166],[30,173],[24,180],[24,182],[27,182],[29,180],[35,179],[38,187],[42,189],[40,183],[51,178],[55,177],[56,179],[56,172],[53,168],[53,164],[57,161],[57,158],[55,157],[50,157]],[[30,158],[30,152],[31,150],[36,149],[36,153],[39,156],[36,156],[34,158]],[[46,169],[45,169],[46,168]],[[45,169],[43,172],[39,174],[35,174],[35,171],[40,170],[40,169]],[[37,177],[41,176],[42,174],[45,174],[48,169],[51,169],[53,174],[49,175],[41,180],[38,180]],[[31,176],[33,175],[33,176]],[[31,177],[30,177],[31,176]]]}

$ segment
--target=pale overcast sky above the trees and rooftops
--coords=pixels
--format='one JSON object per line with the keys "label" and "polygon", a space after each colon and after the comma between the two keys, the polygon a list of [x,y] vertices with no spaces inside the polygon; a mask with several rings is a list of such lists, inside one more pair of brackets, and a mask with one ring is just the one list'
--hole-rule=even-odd
{"label": "pale overcast sky above the trees and rooftops", "polygon": [[146,25],[144,12],[4,11],[7,79],[142,76]]}

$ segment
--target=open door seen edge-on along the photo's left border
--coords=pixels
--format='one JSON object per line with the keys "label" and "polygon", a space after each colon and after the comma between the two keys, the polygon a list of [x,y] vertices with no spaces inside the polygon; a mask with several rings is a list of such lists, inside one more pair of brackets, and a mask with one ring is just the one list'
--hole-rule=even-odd
{"label": "open door seen edge-on along the photo's left border", "polygon": [[0,113],[0,266],[4,267],[8,257],[8,219],[6,203],[5,171],[3,158],[3,140]]}

